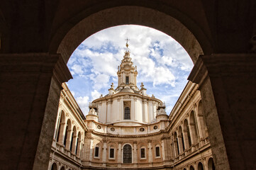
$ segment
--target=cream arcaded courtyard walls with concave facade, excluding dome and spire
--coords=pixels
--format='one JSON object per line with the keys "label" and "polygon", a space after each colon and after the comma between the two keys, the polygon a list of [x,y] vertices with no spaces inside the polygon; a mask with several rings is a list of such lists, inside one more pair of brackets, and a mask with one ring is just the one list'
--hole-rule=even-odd
{"label": "cream arcaded courtyard walls with concave facade, excluding dome and spire", "polygon": [[[69,113],[72,127],[76,126],[84,134],[79,140],[80,154],[65,147],[68,142],[64,145],[61,140],[53,139],[49,169],[215,169],[196,84],[187,84],[168,120],[156,119],[154,123],[138,125],[85,120],[79,107],[74,107],[71,93],[64,88],[62,93],[66,94],[61,97],[58,114],[61,117],[62,111]],[[68,126],[66,121],[67,118],[64,125]],[[60,130],[57,123],[55,134]],[[130,152],[126,145],[130,146]],[[127,155],[129,163],[125,161]]]}

